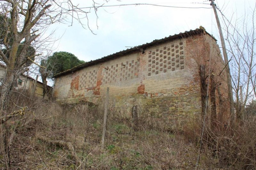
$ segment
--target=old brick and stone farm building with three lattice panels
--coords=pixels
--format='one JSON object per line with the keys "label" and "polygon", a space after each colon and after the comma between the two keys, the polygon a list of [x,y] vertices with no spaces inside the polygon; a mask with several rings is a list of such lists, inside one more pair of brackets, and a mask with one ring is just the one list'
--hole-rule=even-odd
{"label": "old brick and stone farm building with three lattice panels", "polygon": [[[216,39],[204,29],[190,30],[61,72],[55,75],[53,97],[100,103],[109,87],[109,108],[119,115],[132,117],[137,106],[139,118],[180,127],[201,113],[198,67],[204,63],[207,70],[209,60],[215,74],[225,67]],[[218,82],[216,94],[223,102],[227,84]],[[219,102],[216,98],[217,112]]]}

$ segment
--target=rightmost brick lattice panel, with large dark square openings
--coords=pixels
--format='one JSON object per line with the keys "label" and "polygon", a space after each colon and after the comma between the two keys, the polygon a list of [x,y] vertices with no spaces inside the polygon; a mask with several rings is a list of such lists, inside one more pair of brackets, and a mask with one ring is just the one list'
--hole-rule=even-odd
{"label": "rightmost brick lattice panel, with large dark square openings", "polygon": [[148,52],[148,76],[183,69],[183,42]]}

